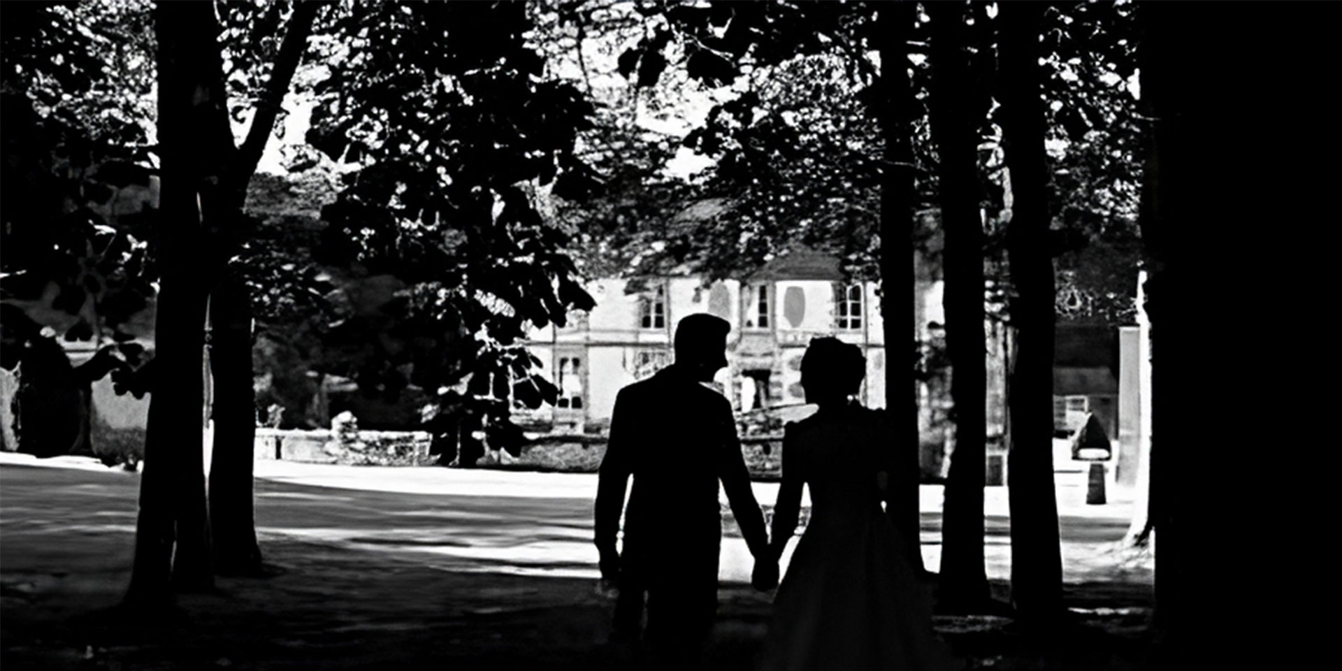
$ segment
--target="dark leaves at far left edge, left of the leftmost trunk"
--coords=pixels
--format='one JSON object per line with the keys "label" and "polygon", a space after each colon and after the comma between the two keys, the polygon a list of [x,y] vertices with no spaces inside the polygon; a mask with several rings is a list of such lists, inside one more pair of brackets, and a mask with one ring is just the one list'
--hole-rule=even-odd
{"label": "dark leaves at far left edge, left of the leftmost trunk", "polygon": [[[145,391],[127,323],[153,298],[148,207],[153,40],[144,3],[4,8],[0,295],[67,341],[103,345],[119,389]],[[149,121],[146,121],[146,118]]]}

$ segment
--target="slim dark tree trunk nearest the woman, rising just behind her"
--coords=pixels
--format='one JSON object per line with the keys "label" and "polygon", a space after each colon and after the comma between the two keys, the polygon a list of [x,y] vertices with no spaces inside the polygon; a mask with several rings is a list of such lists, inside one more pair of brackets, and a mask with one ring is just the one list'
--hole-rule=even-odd
{"label": "slim dark tree trunk nearest the woman, rising just behind her", "polygon": [[[878,15],[876,35],[882,40],[882,86],[884,99],[880,109],[880,130],[886,140],[886,165],[880,184],[880,313],[884,317],[886,342],[886,408],[900,427],[896,400],[899,389],[913,392],[913,405],[903,421],[907,427],[890,436],[895,450],[899,472],[892,474],[896,494],[888,514],[905,538],[909,541],[909,561],[922,569],[919,542],[921,514],[918,510],[918,486],[921,467],[918,463],[918,386],[907,366],[907,353],[898,353],[900,342],[909,342],[909,322],[914,322],[918,333],[917,276],[914,263],[914,156],[913,156],[913,87],[909,83],[909,39],[913,34],[917,5],[900,1],[886,5],[888,11]],[[909,282],[909,285],[905,285]],[[900,299],[900,297],[903,297]],[[903,314],[900,319],[898,315]],[[913,384],[911,384],[913,382]],[[910,385],[910,386],[905,386]]]}

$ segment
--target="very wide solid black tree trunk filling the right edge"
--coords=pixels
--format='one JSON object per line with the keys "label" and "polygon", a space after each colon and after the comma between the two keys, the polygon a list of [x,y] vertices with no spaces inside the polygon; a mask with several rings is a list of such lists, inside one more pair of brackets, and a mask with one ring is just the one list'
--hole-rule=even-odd
{"label": "very wide solid black tree trunk filling the right edge", "polygon": [[[1282,641],[1327,636],[1291,615],[1331,586],[1307,546],[1331,505],[1310,479],[1331,475],[1311,433],[1327,413],[1296,391],[1327,377],[1315,353],[1335,340],[1333,12],[1235,3],[1209,28],[1201,7],[1138,7],[1158,648],[1168,668],[1307,668],[1308,646]],[[1244,542],[1247,519],[1290,541]]]}

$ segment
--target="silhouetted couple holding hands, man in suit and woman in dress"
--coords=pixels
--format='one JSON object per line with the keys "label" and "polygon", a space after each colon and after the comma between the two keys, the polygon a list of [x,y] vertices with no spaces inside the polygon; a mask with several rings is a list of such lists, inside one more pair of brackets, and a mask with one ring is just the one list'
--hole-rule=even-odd
{"label": "silhouetted couple holding hands, man in suit and woman in dress", "polygon": [[[668,668],[702,664],[718,605],[721,482],[756,560],[754,586],[778,586],[761,670],[951,668],[931,629],[921,572],[882,509],[892,432],[883,412],[851,400],[866,374],[862,352],[816,338],[803,357],[801,385],[819,409],[786,427],[770,541],[731,405],[702,384],[726,366],[729,330],[718,317],[686,317],[676,327],[675,364],[616,397],[596,495],[601,577],[619,586],[612,640],[637,640],[647,609],[655,660]],[[812,514],[780,585],[778,561],[797,527],[803,484]]]}

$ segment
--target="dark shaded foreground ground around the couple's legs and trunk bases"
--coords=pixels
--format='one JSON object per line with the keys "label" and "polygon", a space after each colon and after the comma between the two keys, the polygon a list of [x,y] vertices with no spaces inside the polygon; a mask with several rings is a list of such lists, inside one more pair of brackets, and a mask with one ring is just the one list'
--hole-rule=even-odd
{"label": "dark shaded foreground ground around the couple's legs and trunk bases", "polygon": [[[117,603],[129,566],[97,585],[7,574],[0,662],[7,671],[600,670],[633,659],[604,643],[611,604],[588,580],[443,572],[293,541],[267,550],[285,574],[220,578],[217,593],[183,596],[183,615],[156,624],[98,615]],[[1123,605],[1139,595],[1104,589],[1090,599],[1104,607],[1063,631],[1016,631],[989,616],[938,616],[937,625],[969,668],[1139,668],[1147,611]],[[1086,600],[1088,589],[1072,592]],[[768,595],[726,586],[711,668],[752,668],[768,613]]]}

